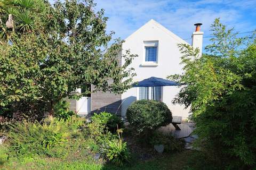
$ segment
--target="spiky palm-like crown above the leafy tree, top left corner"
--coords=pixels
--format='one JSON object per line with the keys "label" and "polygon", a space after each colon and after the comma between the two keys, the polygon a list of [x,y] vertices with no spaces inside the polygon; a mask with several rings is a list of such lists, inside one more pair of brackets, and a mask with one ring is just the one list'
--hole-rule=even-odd
{"label": "spiky palm-like crown above the leafy tree, top left corner", "polygon": [[[0,0],[0,39],[9,40],[12,31],[23,34],[39,30],[46,10],[43,0]],[[14,21],[12,29],[5,25],[9,14]]]}

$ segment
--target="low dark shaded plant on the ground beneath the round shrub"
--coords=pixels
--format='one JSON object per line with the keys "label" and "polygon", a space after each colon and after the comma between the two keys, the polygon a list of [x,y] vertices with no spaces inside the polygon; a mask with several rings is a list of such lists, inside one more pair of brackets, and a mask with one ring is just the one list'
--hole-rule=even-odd
{"label": "low dark shaded plant on the ground beneath the round shrub", "polygon": [[175,152],[184,149],[186,142],[184,139],[176,139],[172,135],[163,135],[155,132],[149,139],[151,145],[164,145],[165,152]]}

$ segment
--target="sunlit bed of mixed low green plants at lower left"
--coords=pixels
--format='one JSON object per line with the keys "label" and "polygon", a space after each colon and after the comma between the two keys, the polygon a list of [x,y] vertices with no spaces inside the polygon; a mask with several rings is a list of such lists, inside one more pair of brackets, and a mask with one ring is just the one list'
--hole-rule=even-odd
{"label": "sunlit bed of mixed low green plants at lower left", "polygon": [[[0,163],[8,157],[8,160],[13,160],[19,165],[35,162],[40,164],[35,167],[46,168],[47,163],[57,160],[62,160],[62,163],[79,161],[86,163],[85,167],[93,167],[89,166],[95,163],[90,162],[93,159],[91,151],[100,153],[102,158],[108,158],[118,166],[127,162],[129,152],[120,134],[122,129],[117,131],[118,139],[116,134],[107,130],[106,124],[102,125],[96,121],[90,123],[89,128],[84,128],[84,123],[85,119],[77,116],[66,120],[49,116],[41,123],[22,121],[12,124],[10,130],[5,133],[8,139],[4,143],[6,150],[0,147],[0,153],[4,152],[4,156],[0,156]],[[43,160],[43,163],[39,163],[38,158]],[[52,166],[46,169],[51,169]]]}

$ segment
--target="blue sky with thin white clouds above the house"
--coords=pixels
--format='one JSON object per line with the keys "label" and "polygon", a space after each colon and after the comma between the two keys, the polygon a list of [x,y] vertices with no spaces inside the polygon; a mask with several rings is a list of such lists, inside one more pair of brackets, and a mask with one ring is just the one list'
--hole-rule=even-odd
{"label": "blue sky with thin white clouds above the house", "polygon": [[[116,32],[114,38],[125,39],[150,19],[182,39],[191,38],[194,23],[198,22],[203,23],[204,36],[209,36],[215,18],[239,32],[256,29],[256,0],[95,0],[95,3],[96,10],[105,9],[105,16],[109,17],[107,30]],[[204,38],[204,46],[209,43],[209,38]]]}

